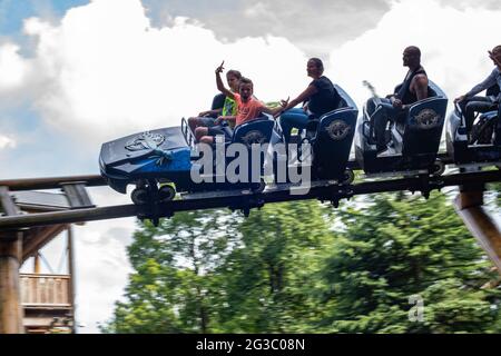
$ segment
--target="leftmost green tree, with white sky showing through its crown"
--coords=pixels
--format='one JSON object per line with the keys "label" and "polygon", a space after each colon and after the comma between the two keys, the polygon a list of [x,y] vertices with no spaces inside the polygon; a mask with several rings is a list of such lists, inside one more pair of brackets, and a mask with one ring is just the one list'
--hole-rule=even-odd
{"label": "leftmost green tree, with white sky showing through its crown", "polygon": [[135,273],[107,333],[210,333],[214,270],[232,246],[232,214],[179,212],[158,228],[145,222],[128,256]]}

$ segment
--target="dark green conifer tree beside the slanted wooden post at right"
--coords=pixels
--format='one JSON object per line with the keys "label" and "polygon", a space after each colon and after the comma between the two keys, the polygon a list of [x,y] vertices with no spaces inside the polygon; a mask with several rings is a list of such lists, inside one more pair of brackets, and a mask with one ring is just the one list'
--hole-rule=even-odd
{"label": "dark green conifer tree beside the slanted wooden post at right", "polygon": [[[445,199],[380,195],[341,210],[324,269],[335,303],[325,330],[500,332],[497,293],[481,289],[491,264]],[[424,301],[423,323],[409,319],[413,297]]]}

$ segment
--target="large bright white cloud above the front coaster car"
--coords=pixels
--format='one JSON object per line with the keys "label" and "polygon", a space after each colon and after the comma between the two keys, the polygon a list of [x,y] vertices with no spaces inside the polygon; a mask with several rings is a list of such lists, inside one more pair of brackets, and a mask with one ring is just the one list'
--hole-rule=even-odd
{"label": "large bright white cloud above the front coaster car", "polygon": [[60,24],[31,18],[24,31],[38,39],[32,63],[41,77],[33,98],[38,110],[47,122],[92,145],[177,126],[206,109],[223,59],[227,69],[252,78],[264,100],[305,86],[305,57],[287,40],[223,43],[184,18],[156,29],[139,0],[95,0],[68,11]]}

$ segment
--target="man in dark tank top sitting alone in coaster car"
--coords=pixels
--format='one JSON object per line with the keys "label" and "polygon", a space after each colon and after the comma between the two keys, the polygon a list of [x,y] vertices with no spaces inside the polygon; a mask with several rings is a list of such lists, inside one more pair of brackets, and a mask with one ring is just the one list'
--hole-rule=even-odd
{"label": "man in dark tank top sitting alone in coaster car", "polygon": [[[386,96],[385,99],[377,99],[380,102],[371,98],[366,103],[367,113],[372,117],[379,154],[387,149],[384,135],[387,121],[397,121],[404,118],[414,102],[432,96],[432,90],[428,86],[426,72],[421,66],[420,49],[415,46],[405,48],[402,60],[403,66],[409,67],[409,71],[404,81],[396,86],[394,93]],[[381,110],[375,112],[379,105]],[[373,113],[375,115],[373,116]]]}

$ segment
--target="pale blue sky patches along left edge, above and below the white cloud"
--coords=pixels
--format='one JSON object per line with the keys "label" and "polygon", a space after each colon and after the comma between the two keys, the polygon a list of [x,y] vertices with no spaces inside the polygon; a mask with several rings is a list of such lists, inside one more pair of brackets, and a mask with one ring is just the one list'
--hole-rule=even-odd
{"label": "pale blue sky patches along left edge, above and below the white cloud", "polygon": [[[20,53],[30,56],[32,48],[28,47],[28,37],[23,34],[23,20],[30,17],[40,17],[50,21],[59,21],[68,9],[88,3],[88,0],[0,0],[0,43],[14,41],[21,47]],[[61,165],[60,157],[53,155],[57,147],[68,147],[71,139],[60,136],[50,127],[43,125],[39,113],[33,110],[30,102],[21,102],[14,108],[3,109],[4,118],[0,121],[2,130],[17,132],[26,140],[26,146],[17,146],[4,157],[10,170],[2,171],[2,178],[20,177],[28,175],[27,169],[18,170],[17,161],[22,167],[30,167],[37,175],[66,175],[68,172],[95,170],[95,161],[91,158],[68,160]],[[38,155],[33,155],[37,152]],[[43,154],[43,159],[40,159]],[[1,157],[2,152],[0,152]],[[24,170],[24,172],[23,172]]]}

